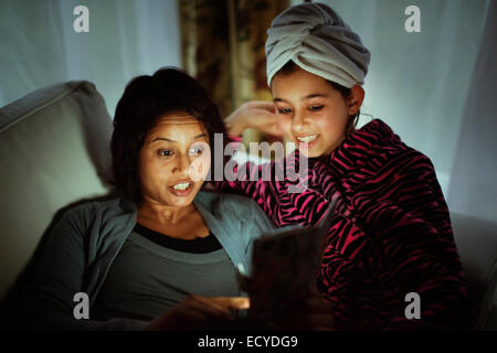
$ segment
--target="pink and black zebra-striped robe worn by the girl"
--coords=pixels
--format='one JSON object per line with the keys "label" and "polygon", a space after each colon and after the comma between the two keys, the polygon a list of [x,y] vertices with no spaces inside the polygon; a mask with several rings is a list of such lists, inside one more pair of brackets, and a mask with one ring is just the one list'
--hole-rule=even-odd
{"label": "pink and black zebra-striped robe worn by the girl", "polygon": [[[472,329],[450,212],[431,160],[374,119],[329,156],[308,159],[302,192],[288,192],[297,182],[262,180],[285,167],[298,171],[303,158],[296,151],[272,163],[236,165],[234,173],[246,168],[251,179],[214,186],[252,197],[278,226],[317,224],[337,199],[317,274],[319,291],[335,304],[337,329]],[[256,174],[260,180],[250,181]],[[421,319],[405,315],[411,292],[420,296]]]}

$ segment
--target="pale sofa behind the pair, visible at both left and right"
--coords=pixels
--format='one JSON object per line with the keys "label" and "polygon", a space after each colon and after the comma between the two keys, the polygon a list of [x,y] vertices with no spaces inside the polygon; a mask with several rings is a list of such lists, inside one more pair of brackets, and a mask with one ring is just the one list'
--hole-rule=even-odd
{"label": "pale sofa behind the pair, visible at both left and right", "polygon": [[[104,98],[85,81],[35,90],[0,109],[0,298],[17,295],[67,205],[109,192],[112,130]],[[497,224],[451,218],[477,329],[497,330]]]}

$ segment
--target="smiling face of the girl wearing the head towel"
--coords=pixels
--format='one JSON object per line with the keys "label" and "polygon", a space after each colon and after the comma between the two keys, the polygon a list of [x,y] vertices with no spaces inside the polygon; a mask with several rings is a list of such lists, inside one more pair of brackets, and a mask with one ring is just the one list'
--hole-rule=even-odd
{"label": "smiling face of the girl wearing the head towel", "polygon": [[307,157],[329,154],[345,139],[350,108],[325,78],[298,68],[274,76],[272,94],[279,129]]}

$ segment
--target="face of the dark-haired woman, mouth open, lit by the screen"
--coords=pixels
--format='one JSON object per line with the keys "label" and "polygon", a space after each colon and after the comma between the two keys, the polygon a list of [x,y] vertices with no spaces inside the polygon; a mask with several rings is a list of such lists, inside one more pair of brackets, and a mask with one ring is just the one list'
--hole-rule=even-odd
{"label": "face of the dark-haired woman, mouth open, lit by the screen", "polygon": [[192,203],[210,167],[209,136],[186,113],[159,118],[139,151],[141,197],[169,206]]}

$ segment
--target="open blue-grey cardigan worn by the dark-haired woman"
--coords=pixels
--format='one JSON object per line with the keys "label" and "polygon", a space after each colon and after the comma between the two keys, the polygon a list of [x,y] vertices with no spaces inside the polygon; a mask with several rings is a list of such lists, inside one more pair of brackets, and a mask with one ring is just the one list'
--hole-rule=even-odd
{"label": "open blue-grey cardigan worn by the dark-haired woman", "polygon": [[[252,200],[200,191],[193,204],[233,265],[250,270],[253,239],[275,226]],[[148,322],[116,318],[92,320],[92,307],[124,242],[136,224],[137,210],[124,199],[87,202],[67,211],[43,249],[22,306],[22,321],[44,330],[140,330]],[[73,298],[85,292],[89,319],[76,320]]]}

